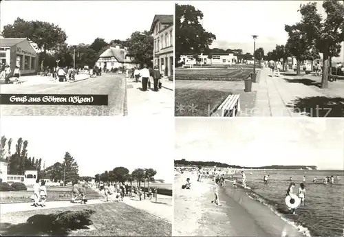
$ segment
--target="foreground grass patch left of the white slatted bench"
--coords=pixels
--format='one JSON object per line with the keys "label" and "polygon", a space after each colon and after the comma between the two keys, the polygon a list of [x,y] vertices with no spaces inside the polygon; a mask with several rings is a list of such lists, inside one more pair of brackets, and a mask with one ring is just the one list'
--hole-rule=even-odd
{"label": "foreground grass patch left of the white slatted bench", "polygon": [[228,91],[175,89],[175,116],[207,117],[230,95]]}

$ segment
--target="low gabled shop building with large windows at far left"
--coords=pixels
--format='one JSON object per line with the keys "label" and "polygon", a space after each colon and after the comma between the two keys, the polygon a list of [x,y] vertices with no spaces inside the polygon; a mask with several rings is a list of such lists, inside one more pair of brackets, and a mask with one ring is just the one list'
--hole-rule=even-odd
{"label": "low gabled shop building with large windows at far left", "polygon": [[16,66],[21,75],[34,74],[39,69],[39,56],[26,38],[0,38],[0,63]]}

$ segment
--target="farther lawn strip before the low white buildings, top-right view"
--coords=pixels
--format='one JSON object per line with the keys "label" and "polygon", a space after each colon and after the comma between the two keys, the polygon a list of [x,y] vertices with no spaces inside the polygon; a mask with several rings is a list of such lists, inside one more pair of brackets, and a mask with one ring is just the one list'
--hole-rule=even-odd
{"label": "farther lawn strip before the low white buildings, top-right view", "polygon": [[246,79],[251,69],[175,69],[175,80],[226,80]]}

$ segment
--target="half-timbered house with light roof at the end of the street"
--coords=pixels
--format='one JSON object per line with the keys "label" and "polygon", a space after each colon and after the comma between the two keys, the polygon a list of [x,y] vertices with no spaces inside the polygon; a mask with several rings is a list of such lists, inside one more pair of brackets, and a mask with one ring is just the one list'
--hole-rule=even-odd
{"label": "half-timbered house with light roof at the end of the street", "polygon": [[127,49],[121,49],[119,46],[116,46],[109,47],[103,54],[100,54],[96,66],[102,69],[104,67],[107,69],[119,67],[133,68],[136,67],[136,64],[133,63],[133,58],[128,55]]}

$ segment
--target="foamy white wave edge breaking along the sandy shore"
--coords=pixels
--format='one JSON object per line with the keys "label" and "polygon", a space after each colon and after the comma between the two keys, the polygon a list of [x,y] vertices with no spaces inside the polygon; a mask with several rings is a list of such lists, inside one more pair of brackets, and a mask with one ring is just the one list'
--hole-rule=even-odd
{"label": "foamy white wave edge breaking along the sandy shore", "polygon": [[[295,221],[292,221],[288,218],[286,218],[286,216],[283,216],[283,214],[281,214],[281,212],[279,212],[276,208],[275,205],[276,203],[274,203],[273,201],[270,201],[268,199],[265,199],[263,196],[260,196],[259,194],[255,193],[254,191],[251,192],[246,192],[246,195],[248,195],[248,197],[252,200],[255,201],[259,201],[259,203],[266,205],[267,207],[269,207],[269,209],[274,212],[277,216],[279,216],[279,218],[281,218],[281,220],[285,221],[286,223],[288,223],[289,225],[292,225],[292,227],[294,227],[295,229],[297,229],[298,232],[300,232],[301,234],[303,234],[303,236],[306,237],[312,237],[310,234],[310,231],[308,230],[307,227],[304,227],[303,225],[296,223]],[[283,236],[282,236],[283,237]]]}

